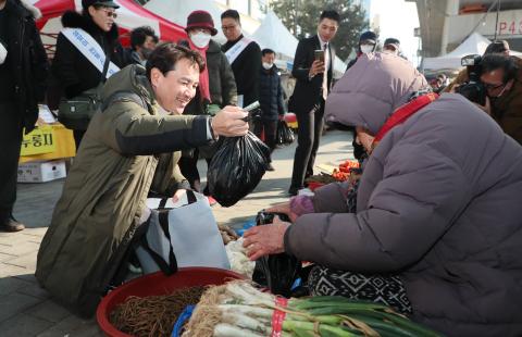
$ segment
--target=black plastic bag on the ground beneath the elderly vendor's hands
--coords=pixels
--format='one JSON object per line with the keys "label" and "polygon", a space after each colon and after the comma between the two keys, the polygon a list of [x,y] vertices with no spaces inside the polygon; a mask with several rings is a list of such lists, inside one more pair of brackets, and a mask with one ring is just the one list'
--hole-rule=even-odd
{"label": "black plastic bag on the ground beneath the elderly vendor's hands", "polygon": [[[258,213],[256,224],[269,225],[273,222],[274,215],[278,215],[282,221],[289,221],[285,214]],[[263,257],[256,261],[252,279],[257,284],[268,287],[274,295],[284,297],[291,296],[291,286],[299,277],[301,271],[301,261],[287,253]]]}

